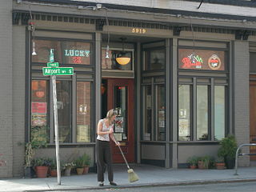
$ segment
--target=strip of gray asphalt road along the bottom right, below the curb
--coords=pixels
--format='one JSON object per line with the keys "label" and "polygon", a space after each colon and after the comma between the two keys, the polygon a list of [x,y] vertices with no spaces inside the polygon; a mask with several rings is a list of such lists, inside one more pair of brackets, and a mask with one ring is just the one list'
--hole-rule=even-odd
{"label": "strip of gray asphalt road along the bottom right, below the curb", "polygon": [[[72,192],[255,192],[256,182],[233,182],[222,184],[195,185],[195,186],[157,186],[129,189],[102,189],[102,190],[72,190]],[[60,192],[60,191],[58,191]]]}

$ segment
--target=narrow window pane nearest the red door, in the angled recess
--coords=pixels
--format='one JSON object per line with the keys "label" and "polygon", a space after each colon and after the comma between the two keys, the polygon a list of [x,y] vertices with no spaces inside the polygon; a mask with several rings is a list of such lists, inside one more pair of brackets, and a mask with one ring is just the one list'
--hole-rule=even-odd
{"label": "narrow window pane nearest the red door, in the angled recess", "polygon": [[151,140],[152,129],[152,89],[144,86],[143,89],[143,140]]}

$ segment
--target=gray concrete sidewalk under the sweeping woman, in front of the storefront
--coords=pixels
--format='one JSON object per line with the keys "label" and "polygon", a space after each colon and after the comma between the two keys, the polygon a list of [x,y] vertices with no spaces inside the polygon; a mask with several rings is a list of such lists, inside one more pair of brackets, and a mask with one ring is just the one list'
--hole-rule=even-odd
{"label": "gray concrete sidewalk under the sweeping woman, in front of the storefront", "polygon": [[[238,175],[234,170],[190,170],[165,169],[158,166],[132,165],[140,180],[130,183],[125,165],[114,166],[114,181],[119,188],[141,186],[177,186],[219,182],[256,182],[256,167],[238,168]],[[62,177],[62,185],[58,186],[57,178],[11,178],[0,180],[0,191],[50,191],[50,190],[90,190],[97,189],[97,175],[71,175]],[[105,174],[105,186],[110,188]],[[102,187],[100,187],[102,188]]]}

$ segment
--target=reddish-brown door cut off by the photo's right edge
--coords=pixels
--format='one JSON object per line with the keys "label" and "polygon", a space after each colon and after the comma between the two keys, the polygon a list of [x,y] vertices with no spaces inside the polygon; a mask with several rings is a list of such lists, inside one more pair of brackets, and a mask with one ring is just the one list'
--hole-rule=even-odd
{"label": "reddish-brown door cut off by the photo's right edge", "polygon": [[[250,81],[250,143],[256,143],[256,81]],[[256,154],[256,146],[250,146],[250,154]],[[256,156],[250,156],[256,161]]]}

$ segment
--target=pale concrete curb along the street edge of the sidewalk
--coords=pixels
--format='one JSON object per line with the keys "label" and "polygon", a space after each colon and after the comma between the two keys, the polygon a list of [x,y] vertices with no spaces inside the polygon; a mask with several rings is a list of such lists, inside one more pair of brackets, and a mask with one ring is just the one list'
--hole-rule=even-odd
{"label": "pale concrete curb along the street edge of the sidewalk", "polygon": [[72,190],[107,190],[107,189],[129,189],[129,188],[142,188],[142,187],[155,187],[155,186],[192,186],[192,185],[207,185],[218,183],[232,183],[232,182],[256,182],[256,178],[241,178],[241,179],[226,179],[226,180],[197,180],[197,181],[184,181],[184,182],[155,182],[137,185],[123,185],[123,186],[89,186],[78,188],[59,188],[49,190],[23,190],[24,192],[47,192],[47,191],[72,191]]}

